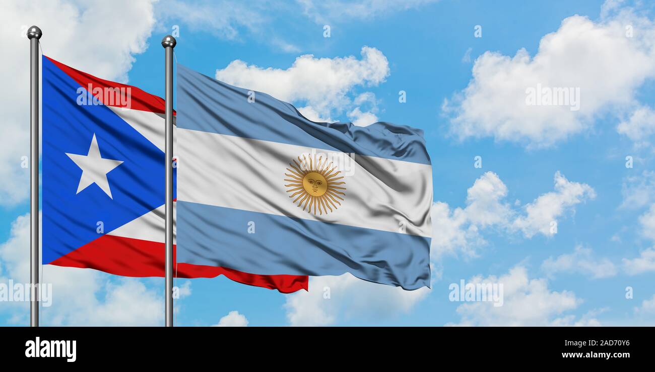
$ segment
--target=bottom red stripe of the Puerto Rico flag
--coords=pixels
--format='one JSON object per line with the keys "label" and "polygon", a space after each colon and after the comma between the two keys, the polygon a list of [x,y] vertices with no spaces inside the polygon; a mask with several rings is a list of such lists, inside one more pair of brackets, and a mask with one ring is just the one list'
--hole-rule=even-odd
{"label": "bottom red stripe of the Puerto Rico flag", "polygon": [[[176,263],[174,246],[173,263]],[[96,269],[123,277],[164,277],[164,243],[113,235],[98,239],[50,262],[50,265]],[[174,267],[175,271],[175,267]],[[174,273],[175,275],[175,273]],[[178,278],[214,278],[219,275],[263,288],[291,293],[308,290],[309,278],[298,275],[256,275],[227,267],[178,263]]]}

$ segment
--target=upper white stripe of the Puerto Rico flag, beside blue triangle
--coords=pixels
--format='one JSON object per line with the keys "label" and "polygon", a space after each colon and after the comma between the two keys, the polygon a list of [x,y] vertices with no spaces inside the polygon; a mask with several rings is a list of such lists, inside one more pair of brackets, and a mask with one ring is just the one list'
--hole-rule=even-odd
{"label": "upper white stripe of the Puerto Rico flag, beside blue triangle", "polygon": [[[130,124],[136,131],[141,133],[145,139],[153,143],[159,150],[164,152],[166,145],[165,129],[166,118],[164,114],[157,114],[152,111],[124,109],[122,107],[107,106],[115,114]],[[173,116],[173,124],[176,123],[176,117]],[[173,139],[175,140],[176,126],[173,126]],[[173,146],[175,148],[175,146]]]}

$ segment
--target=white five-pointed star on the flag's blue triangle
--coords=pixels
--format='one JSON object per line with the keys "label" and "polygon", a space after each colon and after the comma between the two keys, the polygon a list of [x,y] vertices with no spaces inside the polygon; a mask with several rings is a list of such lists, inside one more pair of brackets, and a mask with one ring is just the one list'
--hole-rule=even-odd
{"label": "white five-pointed star on the flag's blue triangle", "polygon": [[[97,184],[105,194],[111,197],[111,189],[109,189],[107,173],[121,165],[122,161],[104,159],[100,156],[100,148],[98,148],[98,141],[96,141],[96,133],[93,133],[93,139],[91,139],[91,146],[88,148],[88,154],[77,155],[66,153],[66,155],[71,158],[71,160],[75,161],[75,164],[82,169],[82,178],[80,178],[80,184],[77,186],[77,193],[75,194],[79,194],[82,190],[92,184]],[[113,197],[111,197],[111,199],[113,199]]]}

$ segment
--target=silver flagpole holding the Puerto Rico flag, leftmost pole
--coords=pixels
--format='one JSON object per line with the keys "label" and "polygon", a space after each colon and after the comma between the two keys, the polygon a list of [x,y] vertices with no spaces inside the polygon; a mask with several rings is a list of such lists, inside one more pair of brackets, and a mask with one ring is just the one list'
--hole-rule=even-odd
{"label": "silver flagpole holding the Puerto Rico flag, leftmost pole", "polygon": [[39,326],[39,39],[41,29],[29,27],[29,325]]}

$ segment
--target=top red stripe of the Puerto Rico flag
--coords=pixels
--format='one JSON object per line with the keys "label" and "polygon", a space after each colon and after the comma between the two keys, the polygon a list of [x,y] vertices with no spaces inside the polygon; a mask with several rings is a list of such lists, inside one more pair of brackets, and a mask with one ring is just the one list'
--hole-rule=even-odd
{"label": "top red stripe of the Puerto Rico flag", "polygon": [[[104,92],[105,88],[130,88],[130,109],[134,110],[141,110],[141,111],[151,111],[155,112],[157,114],[164,114],[165,109],[166,109],[166,101],[164,101],[163,98],[158,97],[157,95],[153,95],[147,92],[143,92],[143,90],[136,88],[136,86],[132,85],[126,85],[126,84],[121,84],[119,82],[113,82],[109,80],[104,80],[101,78],[98,78],[96,76],[84,73],[83,71],[79,71],[76,69],[73,69],[73,67],[69,67],[67,65],[64,65],[64,63],[55,61],[54,59],[45,56],[45,58],[48,58],[52,63],[54,63],[57,67],[59,67],[66,75],[71,76],[77,84],[80,84],[84,89],[88,90],[88,85],[91,84],[92,88],[101,88]],[[123,99],[126,99],[124,97],[125,92],[127,90],[120,90],[121,92],[121,97]],[[93,92],[91,92],[93,93]],[[114,102],[112,103],[111,101],[108,101],[107,99],[103,100],[102,96],[94,94],[96,98],[98,98],[103,105],[107,106],[114,106],[114,107],[127,107],[126,105],[122,105],[121,99],[114,99]],[[107,102],[105,102],[107,101]],[[176,114],[175,110],[173,111],[173,114]]]}

